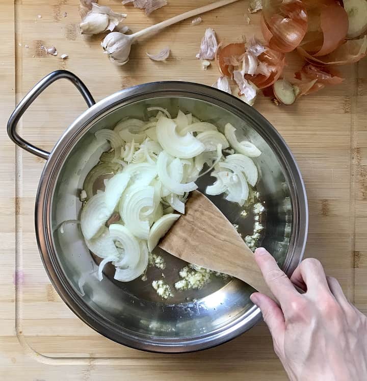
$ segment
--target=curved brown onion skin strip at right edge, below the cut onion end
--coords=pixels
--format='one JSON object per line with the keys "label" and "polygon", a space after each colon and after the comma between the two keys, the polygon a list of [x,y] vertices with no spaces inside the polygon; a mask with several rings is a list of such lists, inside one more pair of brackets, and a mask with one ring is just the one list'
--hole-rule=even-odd
{"label": "curved brown onion skin strip at right edge, below the cut onion end", "polygon": [[323,56],[314,57],[306,52],[301,46],[297,47],[297,52],[314,65],[346,65],[357,62],[367,54],[367,36],[358,40],[348,40],[340,45],[334,52]]}

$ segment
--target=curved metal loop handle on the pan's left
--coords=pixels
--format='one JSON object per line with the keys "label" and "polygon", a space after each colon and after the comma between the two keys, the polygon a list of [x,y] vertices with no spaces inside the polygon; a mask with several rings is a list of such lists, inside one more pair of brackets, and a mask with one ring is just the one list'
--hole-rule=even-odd
{"label": "curved metal loop handle on the pan's left", "polygon": [[92,94],[89,92],[85,84],[78,77],[76,77],[76,75],[67,70],[56,70],[46,75],[45,78],[38,82],[30,90],[30,92],[24,96],[24,98],[19,102],[19,105],[11,114],[7,125],[9,138],[15,144],[30,152],[31,154],[39,156],[40,158],[46,160],[48,159],[49,152],[41,148],[38,148],[35,145],[21,138],[16,131],[16,126],[21,116],[31,106],[32,102],[38,97],[38,95],[40,95],[41,92],[45,90],[51,83],[54,83],[55,81],[60,79],[69,80],[82,94],[88,107],[92,107],[95,104],[95,100],[93,99]]}

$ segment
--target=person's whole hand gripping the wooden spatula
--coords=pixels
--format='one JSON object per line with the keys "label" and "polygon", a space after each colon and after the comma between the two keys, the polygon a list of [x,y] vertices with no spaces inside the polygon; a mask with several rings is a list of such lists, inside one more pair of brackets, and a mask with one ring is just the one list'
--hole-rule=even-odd
{"label": "person's whole hand gripping the wooden spatula", "polygon": [[280,307],[258,292],[251,300],[290,379],[367,380],[367,317],[349,303],[338,281],[313,258],[303,260],[291,280],[264,248],[255,251],[255,260]]}

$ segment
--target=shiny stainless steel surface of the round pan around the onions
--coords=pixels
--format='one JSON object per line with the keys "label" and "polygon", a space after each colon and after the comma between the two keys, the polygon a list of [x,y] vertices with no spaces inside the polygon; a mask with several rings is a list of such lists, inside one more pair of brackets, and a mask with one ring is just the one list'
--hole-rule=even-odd
{"label": "shiny stainless steel surface of the round pan around the onions", "polygon": [[[84,244],[77,224],[78,195],[86,174],[100,152],[94,132],[113,126],[125,116],[146,119],[146,108],[160,106],[173,115],[192,112],[223,127],[231,122],[238,137],[250,138],[262,151],[256,160],[258,190],[267,206],[262,244],[287,273],[300,262],[307,236],[308,212],[304,185],[297,164],[273,126],[241,100],[217,89],[183,82],[150,83],[122,90],[78,117],[57,142],[44,167],[36,201],[36,234],[41,257],[56,290],[69,308],[100,334],[124,345],[157,352],[187,352],[228,341],[247,331],[261,318],[249,300],[252,290],[238,280],[214,281],[199,291],[175,292],[167,302],[150,286],[162,270],[149,269],[147,282],[120,283],[96,277],[96,263]],[[204,176],[203,189],[213,179]],[[240,231],[240,209],[221,197],[213,201]],[[200,249],[200,248],[198,248]],[[223,248],[225,249],[225,247]],[[230,255],[230,253],[228,253]],[[183,266],[166,255],[166,280],[178,280]]]}

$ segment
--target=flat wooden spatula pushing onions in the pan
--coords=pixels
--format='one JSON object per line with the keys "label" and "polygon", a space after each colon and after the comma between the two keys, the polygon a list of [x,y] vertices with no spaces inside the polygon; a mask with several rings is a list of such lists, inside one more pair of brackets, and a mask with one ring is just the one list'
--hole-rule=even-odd
{"label": "flat wooden spatula pushing onions in the pan", "polygon": [[276,300],[237,230],[199,191],[193,191],[182,215],[159,246],[184,261],[239,278]]}

